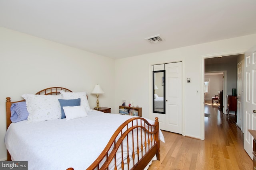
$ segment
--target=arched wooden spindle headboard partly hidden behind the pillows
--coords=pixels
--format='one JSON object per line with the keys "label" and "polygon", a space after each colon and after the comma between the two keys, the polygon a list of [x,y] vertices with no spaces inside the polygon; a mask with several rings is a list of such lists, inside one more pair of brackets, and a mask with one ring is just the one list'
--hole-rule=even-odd
{"label": "arched wooden spindle headboard partly hidden behind the pillows", "polygon": [[[60,94],[60,90],[63,90],[64,92],[72,92],[71,90],[69,90],[67,88],[63,88],[63,87],[50,87],[50,88],[46,88],[44,90],[40,90],[36,94],[39,94],[39,95],[58,95],[58,94]],[[8,129],[8,127],[12,123],[12,121],[11,121],[11,106],[12,106],[12,104],[17,103],[17,102],[24,102],[24,101],[25,100],[11,102],[10,97],[6,98],[6,129]]]}

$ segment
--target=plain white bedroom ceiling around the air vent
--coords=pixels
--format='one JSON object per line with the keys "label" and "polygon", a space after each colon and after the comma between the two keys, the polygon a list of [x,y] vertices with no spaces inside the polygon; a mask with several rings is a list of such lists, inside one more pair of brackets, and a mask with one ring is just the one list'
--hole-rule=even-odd
{"label": "plain white bedroom ceiling around the air vent", "polygon": [[[0,26],[120,59],[256,33],[256,0],[1,0]],[[150,44],[146,37],[164,41]]]}

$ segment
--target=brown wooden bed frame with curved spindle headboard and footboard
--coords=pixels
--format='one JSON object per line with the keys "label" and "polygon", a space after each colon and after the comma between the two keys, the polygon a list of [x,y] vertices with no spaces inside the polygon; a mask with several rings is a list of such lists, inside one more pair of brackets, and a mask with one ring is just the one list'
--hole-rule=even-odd
{"label": "brown wooden bed frame with curved spindle headboard and footboard", "polygon": [[[62,87],[52,87],[46,88],[37,92],[39,95],[58,95],[60,94],[60,90],[65,92],[72,92],[67,88]],[[25,100],[20,100],[17,102],[23,102]],[[12,103],[10,97],[6,98],[6,129],[8,129],[9,125],[12,123],[10,120],[11,111],[10,107]],[[124,115],[125,116],[125,115]],[[140,133],[138,133],[140,132]],[[132,153],[129,153],[129,148],[123,147],[123,140],[128,139],[128,134],[132,134]],[[145,148],[138,146],[138,140],[147,139],[142,141],[145,144]],[[126,140],[128,144],[128,140]],[[159,124],[158,117],[156,117],[154,125],[148,123],[148,121],[142,117],[133,117],[125,121],[115,133],[112,135],[110,141],[106,145],[105,149],[98,156],[98,158],[87,168],[87,170],[108,170],[108,166],[112,160],[116,166],[116,152],[118,148],[121,147],[122,154],[123,152],[127,152],[128,156],[132,156],[132,159],[137,159],[138,162],[136,164],[133,163],[132,167],[129,167],[129,157],[127,158],[128,169],[132,170],[142,170],[144,169],[150,160],[156,155],[157,160],[160,160],[160,139],[159,139]],[[139,153],[139,150],[134,150],[134,148],[140,148],[143,152]],[[130,149],[131,150],[131,149]],[[140,155],[139,155],[140,154]],[[140,157],[140,159],[139,159]],[[121,167],[124,169],[124,157],[122,155],[122,164]],[[11,155],[7,150],[7,160],[11,160]],[[131,160],[132,161],[132,160]],[[134,161],[133,161],[134,162]],[[74,170],[73,168],[68,168],[67,170]]]}

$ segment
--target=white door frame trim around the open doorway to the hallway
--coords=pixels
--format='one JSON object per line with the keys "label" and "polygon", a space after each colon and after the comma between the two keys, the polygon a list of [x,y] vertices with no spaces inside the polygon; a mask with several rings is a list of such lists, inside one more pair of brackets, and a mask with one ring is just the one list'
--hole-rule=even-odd
{"label": "white door frame trim around the open doorway to the hallway", "polygon": [[[244,54],[246,51],[230,51],[230,52],[223,52],[223,53],[212,53],[212,54],[206,54],[201,55],[201,87],[200,87],[200,139],[204,140],[204,59],[207,58],[213,58],[218,56],[228,56],[228,55],[238,55],[238,54]],[[224,96],[225,97],[225,96]]]}

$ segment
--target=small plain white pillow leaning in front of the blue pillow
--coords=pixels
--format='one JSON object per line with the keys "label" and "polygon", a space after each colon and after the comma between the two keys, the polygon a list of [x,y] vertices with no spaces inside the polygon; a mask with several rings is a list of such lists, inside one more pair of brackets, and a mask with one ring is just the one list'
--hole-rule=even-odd
{"label": "small plain white pillow leaning in front of the blue pillow", "polygon": [[87,116],[84,106],[63,106],[63,110],[66,115],[66,120]]}

